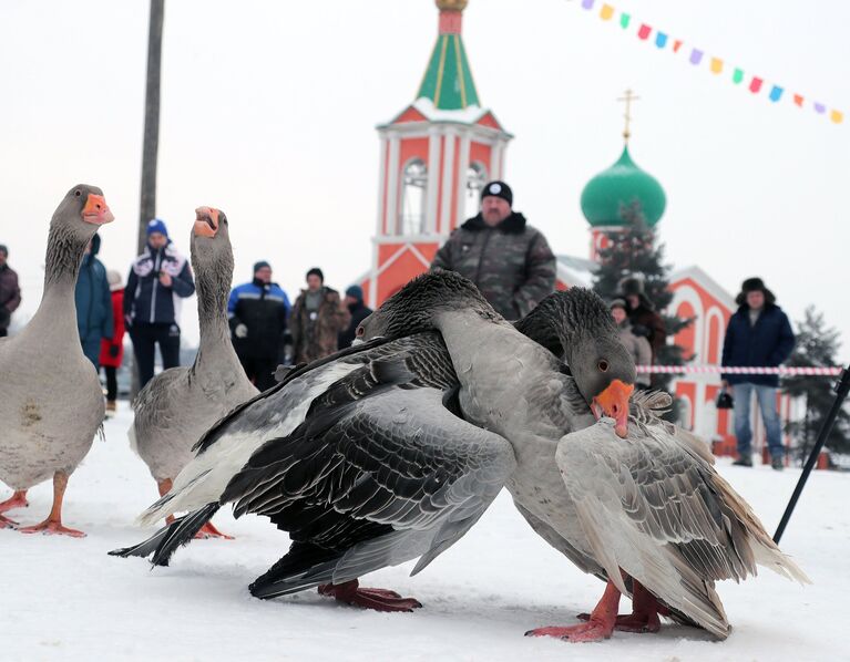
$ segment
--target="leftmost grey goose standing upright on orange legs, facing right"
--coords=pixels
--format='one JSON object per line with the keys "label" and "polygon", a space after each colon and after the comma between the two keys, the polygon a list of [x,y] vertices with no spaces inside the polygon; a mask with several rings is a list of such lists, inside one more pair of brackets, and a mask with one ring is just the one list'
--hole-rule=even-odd
{"label": "leftmost grey goose standing upright on orange legs, facing right", "polygon": [[[24,534],[84,536],[62,525],[62,503],[105,405],[98,373],[80,345],[74,283],[86,245],[112,220],[96,186],[79,184],[65,194],[50,221],[39,309],[20,334],[0,341],[0,480],[14,490],[2,510],[25,506],[27,490],[53,478],[50,514],[41,524],[18,528]],[[0,515],[0,528],[16,525]]]}

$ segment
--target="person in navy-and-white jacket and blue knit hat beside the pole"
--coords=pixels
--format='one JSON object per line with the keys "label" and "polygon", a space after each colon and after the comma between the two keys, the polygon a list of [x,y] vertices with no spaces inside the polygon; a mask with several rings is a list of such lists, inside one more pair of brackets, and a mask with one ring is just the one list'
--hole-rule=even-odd
{"label": "person in navy-and-white jacket and blue knit hat beside the pole", "polygon": [[180,365],[181,299],[195,292],[188,260],[168,238],[165,223],[147,224],[147,246],[130,268],[124,289],[124,322],[133,341],[139,387],[151,381],[160,345],[163,370]]}

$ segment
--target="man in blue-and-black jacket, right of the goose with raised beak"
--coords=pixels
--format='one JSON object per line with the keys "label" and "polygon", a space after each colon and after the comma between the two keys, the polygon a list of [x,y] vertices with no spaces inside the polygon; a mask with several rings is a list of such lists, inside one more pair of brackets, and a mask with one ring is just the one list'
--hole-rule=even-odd
{"label": "man in blue-and-black jacket, right of the goose with raised beak", "polygon": [[231,292],[227,317],[233,349],[245,374],[260,391],[275,385],[275,369],[284,358],[284,335],[289,299],[265,260],[254,265],[254,280]]}

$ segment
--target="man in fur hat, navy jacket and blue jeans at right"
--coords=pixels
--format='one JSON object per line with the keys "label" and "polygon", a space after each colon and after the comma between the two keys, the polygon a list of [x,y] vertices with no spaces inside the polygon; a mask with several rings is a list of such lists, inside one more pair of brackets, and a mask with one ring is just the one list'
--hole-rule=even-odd
{"label": "man in fur hat, navy jacket and blue jeans at right", "polygon": [[[791,355],[793,331],[788,316],[776,304],[776,297],[760,278],[748,278],[735,302],[738,310],[729,319],[723,346],[723,365],[775,368]],[[731,385],[735,401],[735,436],[740,466],[752,466],[750,442],[750,395],[755,392],[767,432],[771,465],[781,469],[785,448],[777,410],[779,376],[775,374],[724,374],[724,389]]]}

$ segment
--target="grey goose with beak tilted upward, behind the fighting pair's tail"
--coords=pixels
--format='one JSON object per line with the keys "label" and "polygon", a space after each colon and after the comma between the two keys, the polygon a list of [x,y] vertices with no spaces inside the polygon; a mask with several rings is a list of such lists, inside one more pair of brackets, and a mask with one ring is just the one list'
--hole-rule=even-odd
{"label": "grey goose with beak tilted upward, behind the fighting pair's tail", "polygon": [[[133,403],[131,445],[150,468],[160,496],[192,459],[192,446],[204,431],[258,393],[236,356],[227,325],[233,280],[227,216],[212,207],[198,207],[195,216],[191,252],[197,275],[198,352],[191,366],[157,374]],[[212,523],[198,536],[229,538]]]}

